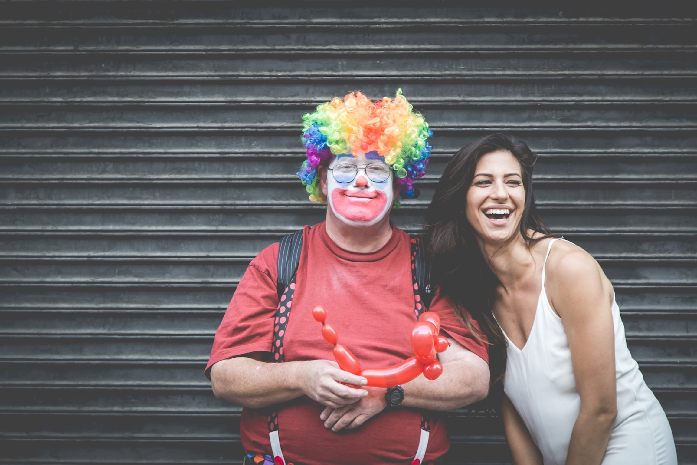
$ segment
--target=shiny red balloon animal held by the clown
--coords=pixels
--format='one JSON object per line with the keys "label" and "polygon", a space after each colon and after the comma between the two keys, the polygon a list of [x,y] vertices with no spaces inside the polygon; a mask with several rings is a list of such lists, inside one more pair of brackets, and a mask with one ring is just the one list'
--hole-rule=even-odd
{"label": "shiny red balloon animal held by the clown", "polygon": [[423,312],[411,328],[411,346],[415,357],[397,363],[387,368],[361,369],[358,358],[346,346],[339,344],[339,335],[333,326],[326,323],[327,311],[322,307],[314,307],[312,317],[322,323],[322,336],[326,342],[334,346],[334,358],[339,368],[345,372],[363,376],[368,380],[367,386],[389,388],[411,381],[423,373],[427,379],[434,380],[443,373],[443,365],[436,359],[436,352],[445,351],[450,342],[444,336],[438,335],[441,330],[441,317],[434,312]]}

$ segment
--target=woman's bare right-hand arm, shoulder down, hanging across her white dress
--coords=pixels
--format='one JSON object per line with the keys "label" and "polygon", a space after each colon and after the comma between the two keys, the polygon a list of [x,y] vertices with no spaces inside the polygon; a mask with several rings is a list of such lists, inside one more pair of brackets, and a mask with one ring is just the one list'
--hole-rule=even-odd
{"label": "woman's bare right-hand arm, shoulder down, hanging across her white dress", "polygon": [[581,409],[567,465],[599,465],[617,416],[612,286],[588,252],[568,243],[548,263],[550,303],[564,324]]}

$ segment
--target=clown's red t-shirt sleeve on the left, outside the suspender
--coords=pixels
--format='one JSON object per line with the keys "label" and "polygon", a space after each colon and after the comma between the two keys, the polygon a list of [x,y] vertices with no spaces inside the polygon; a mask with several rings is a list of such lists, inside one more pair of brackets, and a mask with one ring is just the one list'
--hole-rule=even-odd
{"label": "clown's red t-shirt sleeve on the left, outside the suspender", "polygon": [[206,378],[210,379],[210,367],[220,360],[244,353],[271,351],[273,321],[278,306],[277,260],[278,243],[275,243],[262,250],[247,266],[215,332]]}

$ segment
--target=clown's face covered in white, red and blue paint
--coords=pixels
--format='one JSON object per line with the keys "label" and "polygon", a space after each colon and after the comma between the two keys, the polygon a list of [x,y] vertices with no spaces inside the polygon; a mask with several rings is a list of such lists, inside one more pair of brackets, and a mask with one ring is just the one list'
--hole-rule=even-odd
{"label": "clown's face covered in white, red and blue paint", "polygon": [[384,163],[385,159],[377,152],[360,153],[358,156],[340,155],[332,160],[329,168],[338,165],[357,165],[358,174],[353,181],[340,183],[332,171],[327,172],[327,192],[329,207],[339,220],[351,226],[372,226],[390,211],[394,190],[392,170],[385,181],[374,182],[367,176],[364,167],[370,163]]}

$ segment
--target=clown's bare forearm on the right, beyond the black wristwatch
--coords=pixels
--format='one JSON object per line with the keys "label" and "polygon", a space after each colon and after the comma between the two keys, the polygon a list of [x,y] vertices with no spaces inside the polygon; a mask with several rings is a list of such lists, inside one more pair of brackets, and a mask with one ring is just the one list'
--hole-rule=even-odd
{"label": "clown's bare forearm on the right, beyond the black wristwatch", "polygon": [[443,364],[443,374],[434,381],[422,375],[409,381],[402,386],[401,405],[448,411],[484,399],[489,393],[489,366],[478,360],[452,360]]}

